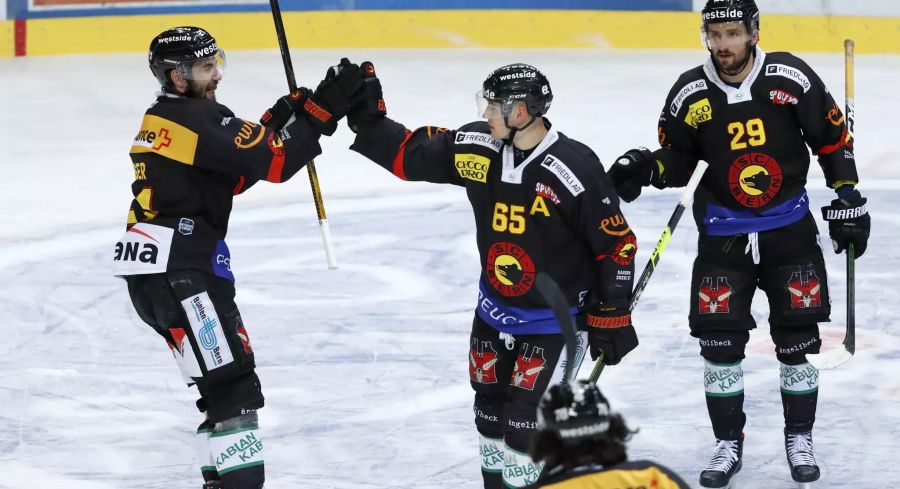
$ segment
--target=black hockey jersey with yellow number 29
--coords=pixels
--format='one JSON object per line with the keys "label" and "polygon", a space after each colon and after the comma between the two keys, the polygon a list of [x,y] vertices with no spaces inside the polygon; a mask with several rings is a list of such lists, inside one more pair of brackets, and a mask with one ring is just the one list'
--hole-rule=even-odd
{"label": "black hockey jersey with yellow number 29", "polygon": [[857,182],[853,141],[822,80],[790,53],[756,48],[740,86],[711,59],[682,74],[659,117],[657,187],[684,186],[709,163],[694,201],[701,233],[729,236],[786,226],[806,215],[809,150],[826,181]]}

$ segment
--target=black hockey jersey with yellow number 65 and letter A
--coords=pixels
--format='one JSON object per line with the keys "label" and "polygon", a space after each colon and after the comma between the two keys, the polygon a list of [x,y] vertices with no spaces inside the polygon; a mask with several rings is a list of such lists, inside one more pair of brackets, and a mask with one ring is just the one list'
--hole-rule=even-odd
{"label": "black hockey jersey with yellow number 65 and letter A", "polygon": [[513,147],[493,139],[486,122],[409,131],[384,119],[360,128],[351,149],[403,180],[466,188],[482,266],[476,311],[495,329],[560,331],[534,287],[541,271],[573,314],[588,292],[591,303],[627,306],[637,242],[587,146],[550,128],[516,165]]}

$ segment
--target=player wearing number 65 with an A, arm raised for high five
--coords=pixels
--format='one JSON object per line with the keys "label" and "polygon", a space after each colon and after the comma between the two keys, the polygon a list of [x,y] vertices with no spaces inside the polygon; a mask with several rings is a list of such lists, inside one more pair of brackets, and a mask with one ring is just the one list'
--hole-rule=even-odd
{"label": "player wearing number 65 with an A, arm raised for high five", "polygon": [[482,270],[467,361],[484,486],[524,487],[540,473],[527,455],[535,410],[565,358],[535,276],[560,284],[584,330],[579,342],[587,336],[592,356],[603,351],[614,365],[638,344],[628,311],[634,233],[597,156],[544,117],[553,94],[533,66],[487,77],[477,95],[487,121],[413,131],[384,116],[380,82],[362,67],[366,100],[347,118],[351,149],[403,180],[466,189]]}

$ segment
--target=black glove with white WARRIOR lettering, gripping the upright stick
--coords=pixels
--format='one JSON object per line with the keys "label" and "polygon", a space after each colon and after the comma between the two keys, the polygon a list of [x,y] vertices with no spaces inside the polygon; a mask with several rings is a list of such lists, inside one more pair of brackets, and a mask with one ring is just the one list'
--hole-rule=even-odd
{"label": "black glove with white WARRIOR lettering, gripping the upright stick", "polygon": [[822,217],[828,221],[835,253],[843,252],[850,243],[853,243],[857,258],[866,252],[871,219],[866,211],[866,198],[858,190],[832,200],[831,205],[822,208]]}

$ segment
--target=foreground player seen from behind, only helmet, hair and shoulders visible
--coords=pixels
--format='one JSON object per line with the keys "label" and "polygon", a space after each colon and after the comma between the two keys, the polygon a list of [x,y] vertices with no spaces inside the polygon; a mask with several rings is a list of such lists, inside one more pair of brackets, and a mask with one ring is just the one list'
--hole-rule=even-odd
{"label": "foreground player seen from behind, only helmet, hair and shoulders visible", "polygon": [[533,489],[631,487],[688,489],[681,477],[646,460],[628,461],[625,442],[634,433],[595,384],[556,384],[544,394],[531,456],[544,464]]}

